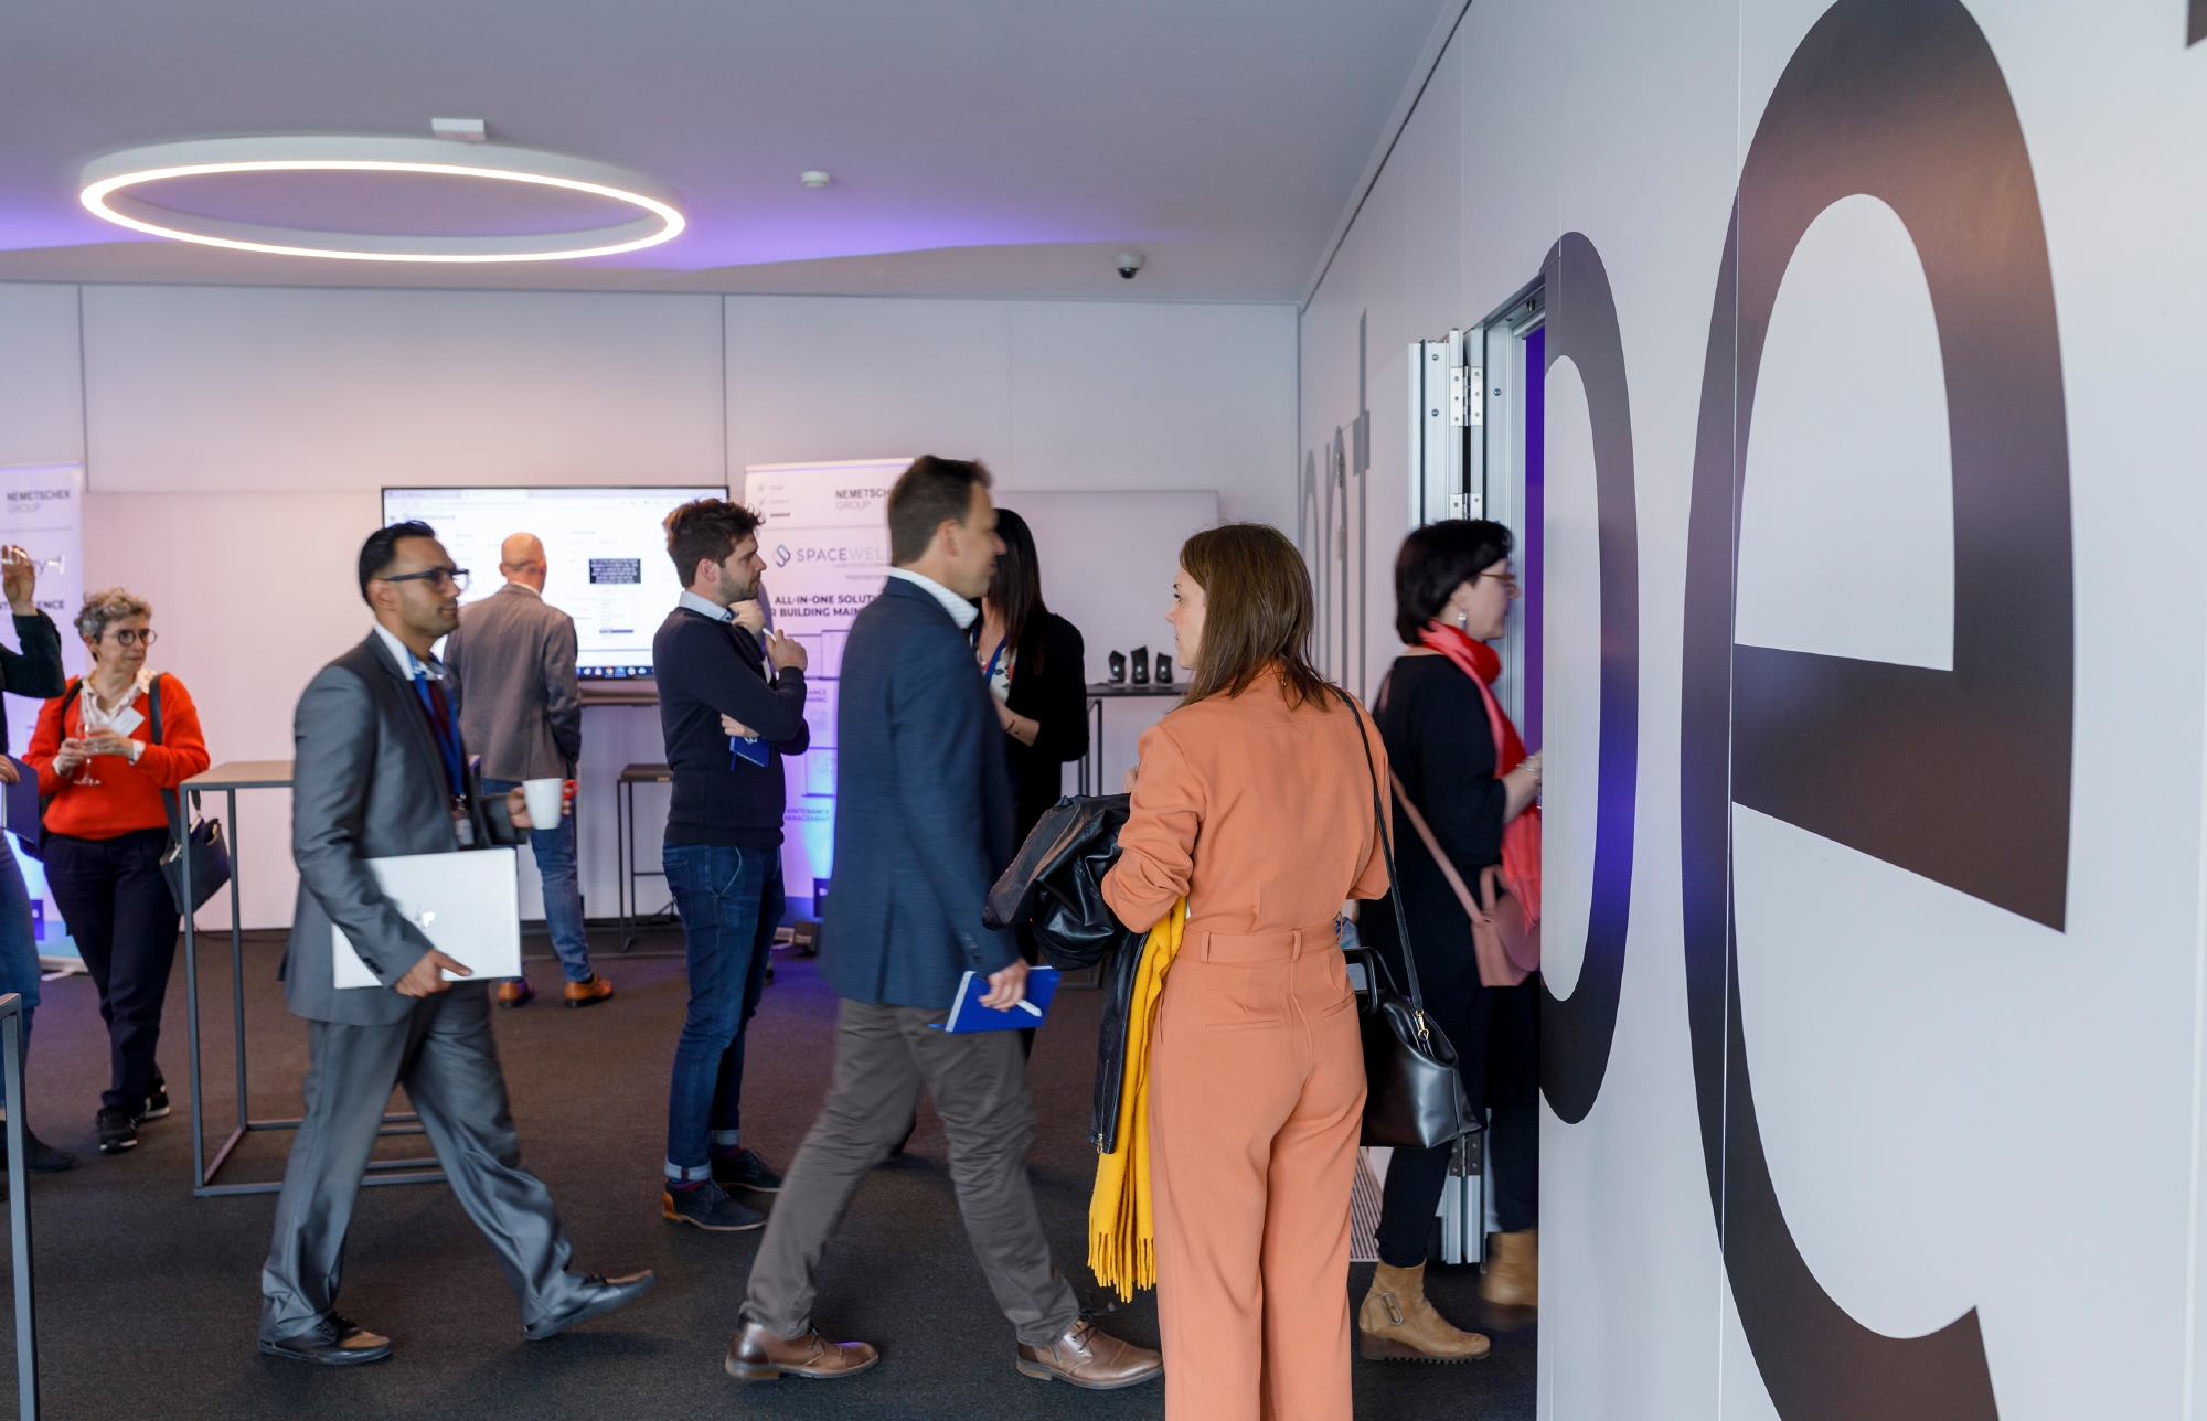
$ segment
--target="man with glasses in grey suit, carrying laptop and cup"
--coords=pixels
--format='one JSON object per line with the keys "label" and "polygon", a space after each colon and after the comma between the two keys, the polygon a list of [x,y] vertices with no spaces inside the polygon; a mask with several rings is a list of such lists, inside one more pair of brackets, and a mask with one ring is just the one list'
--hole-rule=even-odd
{"label": "man with glasses in grey suit, carrying laptop and cup", "polygon": [[[430,947],[375,885],[369,858],[516,843],[521,792],[486,799],[459,737],[459,684],[430,642],[459,622],[466,571],[426,523],[377,530],[360,549],[360,596],[375,631],[307,684],[291,724],[291,858],[298,907],[285,953],[285,1002],[307,1017],[307,1116],[291,1141],[276,1238],[260,1271],[260,1350],[353,1366],[391,1339],[333,1308],[344,1231],[391,1090],[422,1114],[430,1147],[468,1218],[499,1253],[539,1342],[609,1313],[651,1273],[567,1271],[567,1233],[543,1183],[521,1167],[505,1077],[481,982]],[[335,986],[331,922],[382,986]]]}

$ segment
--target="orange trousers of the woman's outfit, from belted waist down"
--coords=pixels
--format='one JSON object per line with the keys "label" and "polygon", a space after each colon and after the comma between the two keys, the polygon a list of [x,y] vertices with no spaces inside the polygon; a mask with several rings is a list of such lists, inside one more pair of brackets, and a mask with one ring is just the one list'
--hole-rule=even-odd
{"label": "orange trousers of the woman's outfit, from belted waist down", "polygon": [[1364,1048],[1333,927],[1190,929],[1150,1046],[1170,1421],[1348,1421]]}

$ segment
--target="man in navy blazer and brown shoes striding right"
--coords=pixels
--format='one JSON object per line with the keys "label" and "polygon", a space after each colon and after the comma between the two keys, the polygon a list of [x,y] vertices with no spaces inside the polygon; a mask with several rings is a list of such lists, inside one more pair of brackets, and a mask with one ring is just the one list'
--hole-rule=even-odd
{"label": "man in navy blazer and brown shoes striding right", "polygon": [[980,907],[1011,863],[1004,730],[967,627],[1004,545],[989,470],[918,459],[889,490],[889,583],[852,622],[836,706],[834,889],[821,977],[843,997],[834,1086],[797,1150],[750,1267],[728,1375],[847,1377],[878,1361],[812,1326],[812,1273],[865,1174],[911,1125],[920,1088],[949,1136],[973,1253],[1017,1335],[1015,1366],[1044,1381],[1119,1388],[1163,1375],[1156,1353],[1081,1317],[1051,1264],[1026,1147],[1035,1101],[1017,1033],[951,1035],[958,982],[987,1006],[1026,995],[1026,962]]}

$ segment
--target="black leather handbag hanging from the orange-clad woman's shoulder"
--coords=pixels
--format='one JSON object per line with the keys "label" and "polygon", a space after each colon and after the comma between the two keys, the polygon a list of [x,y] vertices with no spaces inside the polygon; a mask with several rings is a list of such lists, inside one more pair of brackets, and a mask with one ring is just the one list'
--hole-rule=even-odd
{"label": "black leather handbag hanging from the orange-clad woman's shoulder", "polygon": [[[1335,688],[1357,728],[1364,770],[1373,781],[1373,832],[1386,856],[1388,902],[1395,905],[1395,931],[1401,942],[1401,966],[1410,977],[1410,995],[1401,997],[1379,953],[1348,951],[1364,966],[1357,989],[1357,1028],[1364,1033],[1364,1145],[1393,1150],[1432,1150],[1485,1128],[1457,1072],[1457,1048],[1439,1024],[1426,1015],[1426,997],[1417,986],[1417,953],[1410,951],[1410,918],[1401,909],[1401,883],[1395,878],[1395,845],[1388,841],[1386,803],[1379,799],[1379,768],[1371,741],[1364,739],[1364,715]],[[1384,986],[1382,986],[1384,984]]]}

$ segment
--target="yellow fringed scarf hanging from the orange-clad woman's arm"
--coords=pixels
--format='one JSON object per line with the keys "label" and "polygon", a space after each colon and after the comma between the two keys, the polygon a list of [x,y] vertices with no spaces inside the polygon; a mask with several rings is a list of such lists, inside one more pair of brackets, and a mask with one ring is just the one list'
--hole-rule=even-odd
{"label": "yellow fringed scarf hanging from the orange-clad woman's arm", "polygon": [[1150,1192],[1150,1028],[1165,993],[1165,969],[1181,951],[1187,898],[1172,905],[1141,944],[1134,1000],[1126,1011],[1126,1072],[1119,1079],[1119,1147],[1097,1158],[1097,1192],[1088,1200],[1088,1269],[1119,1291],[1156,1286],[1156,1200]]}

